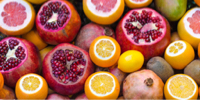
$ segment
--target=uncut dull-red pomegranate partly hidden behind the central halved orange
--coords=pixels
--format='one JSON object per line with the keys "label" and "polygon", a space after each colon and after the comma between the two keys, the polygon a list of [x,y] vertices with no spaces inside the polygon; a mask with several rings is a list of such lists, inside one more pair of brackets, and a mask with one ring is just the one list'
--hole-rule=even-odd
{"label": "uncut dull-red pomegranate partly hidden behind the central halved orange", "polygon": [[89,23],[81,28],[77,35],[75,45],[89,52],[89,47],[92,41],[103,35],[115,38],[114,31],[110,27]]}

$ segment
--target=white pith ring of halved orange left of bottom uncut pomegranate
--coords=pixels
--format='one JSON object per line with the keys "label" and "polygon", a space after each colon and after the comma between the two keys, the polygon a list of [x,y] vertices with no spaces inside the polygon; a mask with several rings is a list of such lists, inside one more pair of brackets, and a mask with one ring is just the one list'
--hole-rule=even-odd
{"label": "white pith ring of halved orange left of bottom uncut pomegranate", "polygon": [[[114,86],[112,87],[112,90],[111,90],[110,92],[107,92],[106,94],[98,94],[98,93],[96,93],[96,92],[92,89],[92,87],[91,87],[91,80],[93,80],[94,77],[96,77],[97,75],[107,75],[107,76],[110,76],[110,77],[112,78]],[[98,73],[98,74],[95,74],[94,76],[92,76],[92,78],[91,78],[90,81],[89,81],[89,89],[90,89],[91,92],[92,92],[94,95],[96,95],[96,96],[107,96],[107,95],[109,95],[109,94],[111,94],[111,93],[114,92],[115,87],[116,87],[116,85],[115,85],[115,82],[114,82],[114,78],[113,78],[110,74],[108,74],[108,73]]]}

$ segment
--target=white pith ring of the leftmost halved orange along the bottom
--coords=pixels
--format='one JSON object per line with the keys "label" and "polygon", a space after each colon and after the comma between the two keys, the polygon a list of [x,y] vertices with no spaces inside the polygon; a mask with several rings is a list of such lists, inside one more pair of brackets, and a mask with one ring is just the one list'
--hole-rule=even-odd
{"label": "white pith ring of the leftmost halved orange along the bottom", "polygon": [[[39,81],[40,81],[39,87],[38,87],[36,90],[34,90],[34,91],[27,91],[27,90],[25,90],[24,87],[22,86],[22,83],[23,83],[24,79],[27,78],[27,77],[30,77],[30,76],[36,77],[36,78],[38,78]],[[27,94],[37,93],[39,90],[41,90],[42,86],[43,86],[43,81],[42,81],[42,79],[41,79],[39,76],[34,75],[34,74],[29,74],[29,75],[26,75],[26,76],[22,77],[22,79],[20,80],[20,83],[19,83],[19,87],[20,87],[20,89],[22,90],[22,92],[27,93]]]}

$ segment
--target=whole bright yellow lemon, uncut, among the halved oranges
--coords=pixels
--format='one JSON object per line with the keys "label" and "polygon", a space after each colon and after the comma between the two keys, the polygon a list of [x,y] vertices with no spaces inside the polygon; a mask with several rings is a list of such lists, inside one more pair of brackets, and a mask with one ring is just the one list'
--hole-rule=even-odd
{"label": "whole bright yellow lemon, uncut, among the halved oranges", "polygon": [[139,70],[144,63],[144,56],[137,50],[124,52],[118,60],[118,68],[126,73]]}

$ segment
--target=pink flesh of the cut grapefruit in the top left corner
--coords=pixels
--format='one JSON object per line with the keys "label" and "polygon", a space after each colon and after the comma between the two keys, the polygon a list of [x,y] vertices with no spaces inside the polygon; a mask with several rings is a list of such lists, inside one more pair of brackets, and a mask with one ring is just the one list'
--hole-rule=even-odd
{"label": "pink flesh of the cut grapefruit in the top left corner", "polygon": [[1,13],[3,22],[12,27],[22,25],[27,18],[26,8],[17,2],[9,2],[4,6],[4,12]]}

